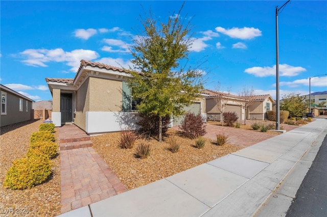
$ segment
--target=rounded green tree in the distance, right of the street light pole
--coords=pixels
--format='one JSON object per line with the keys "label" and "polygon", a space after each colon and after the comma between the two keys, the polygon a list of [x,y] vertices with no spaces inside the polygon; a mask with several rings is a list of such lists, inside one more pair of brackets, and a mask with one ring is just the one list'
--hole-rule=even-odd
{"label": "rounded green tree in the distance, right of the street light pole", "polygon": [[305,96],[300,96],[300,94],[295,93],[284,95],[283,103],[281,103],[281,110],[289,111],[291,117],[301,117],[305,115],[307,110]]}

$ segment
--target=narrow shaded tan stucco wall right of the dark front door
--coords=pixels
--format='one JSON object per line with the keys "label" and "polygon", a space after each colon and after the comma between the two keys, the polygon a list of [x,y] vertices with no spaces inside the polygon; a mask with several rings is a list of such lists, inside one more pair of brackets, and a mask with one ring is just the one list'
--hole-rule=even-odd
{"label": "narrow shaded tan stucco wall right of the dark front door", "polygon": [[76,115],[74,123],[85,130],[86,112],[89,111],[89,78],[81,85],[76,92]]}

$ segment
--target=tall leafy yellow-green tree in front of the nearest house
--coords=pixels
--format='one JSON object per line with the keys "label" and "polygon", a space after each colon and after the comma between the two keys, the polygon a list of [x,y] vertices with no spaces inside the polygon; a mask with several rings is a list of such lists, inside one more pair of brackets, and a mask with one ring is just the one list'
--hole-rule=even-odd
{"label": "tall leafy yellow-green tree in front of the nearest house", "polygon": [[[158,141],[162,138],[162,118],[182,115],[183,107],[190,105],[203,89],[202,71],[180,66],[187,60],[192,45],[190,21],[178,15],[167,23],[156,20],[151,11],[141,17],[144,31],[133,40],[133,78],[129,80],[134,99],[141,99],[138,111],[159,116]],[[136,72],[137,71],[137,72]]]}

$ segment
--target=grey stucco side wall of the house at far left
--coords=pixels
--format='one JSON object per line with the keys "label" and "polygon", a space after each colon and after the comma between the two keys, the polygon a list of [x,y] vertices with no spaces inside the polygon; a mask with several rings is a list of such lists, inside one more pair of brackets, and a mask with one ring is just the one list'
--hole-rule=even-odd
{"label": "grey stucco side wall of the house at far left", "polygon": [[[6,92],[6,91],[4,91]],[[22,111],[19,111],[19,96],[10,92],[7,93],[7,114],[1,115],[1,126],[6,126],[22,121],[31,120],[32,102],[22,98]],[[28,104],[28,110],[26,111],[26,103]]]}

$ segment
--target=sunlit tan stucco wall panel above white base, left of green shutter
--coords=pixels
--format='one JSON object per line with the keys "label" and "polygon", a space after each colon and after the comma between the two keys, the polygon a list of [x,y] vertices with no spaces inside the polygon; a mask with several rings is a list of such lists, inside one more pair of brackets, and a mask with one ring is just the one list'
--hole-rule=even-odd
{"label": "sunlit tan stucco wall panel above white base, left of green shutter", "polygon": [[90,112],[122,111],[122,82],[89,77]]}

